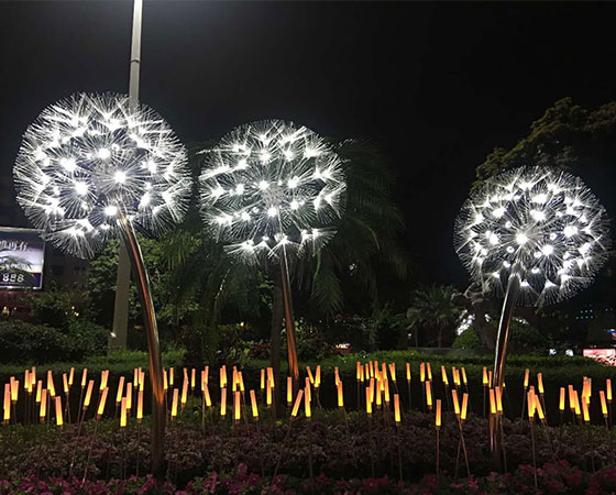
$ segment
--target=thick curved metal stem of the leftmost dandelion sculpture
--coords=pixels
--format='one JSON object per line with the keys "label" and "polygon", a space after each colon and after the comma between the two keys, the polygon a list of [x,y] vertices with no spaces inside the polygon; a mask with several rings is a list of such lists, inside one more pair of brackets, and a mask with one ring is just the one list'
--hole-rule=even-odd
{"label": "thick curved metal stem of the leftmost dandelion sculpture", "polygon": [[165,447],[165,391],[163,388],[163,361],[158,344],[158,328],[152,302],[150,278],[143,263],[141,248],[134,234],[130,220],[121,208],[119,219],[122,242],[131,260],[133,275],[136,282],[139,299],[143,311],[145,334],[147,337],[147,354],[150,359],[150,382],[152,384],[152,440],[151,440],[151,471],[161,474],[163,471]]}

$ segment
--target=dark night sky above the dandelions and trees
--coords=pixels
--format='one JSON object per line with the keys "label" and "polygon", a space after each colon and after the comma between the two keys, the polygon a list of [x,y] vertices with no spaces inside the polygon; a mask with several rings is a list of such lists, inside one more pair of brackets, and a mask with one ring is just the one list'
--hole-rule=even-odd
{"label": "dark night sky above the dandelions and trees", "polygon": [[[463,284],[451,232],[474,168],[554,100],[614,98],[615,14],[588,2],[145,0],[141,99],[185,142],[263,118],[372,139],[398,175],[426,277]],[[130,1],[0,4],[2,177],[44,107],[128,91],[131,18]]]}

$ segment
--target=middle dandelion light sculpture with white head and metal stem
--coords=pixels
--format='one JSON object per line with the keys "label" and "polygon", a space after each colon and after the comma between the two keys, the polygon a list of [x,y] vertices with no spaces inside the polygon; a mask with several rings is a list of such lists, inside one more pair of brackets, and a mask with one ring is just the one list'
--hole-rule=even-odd
{"label": "middle dandelion light sculpture with white head and metal stem", "polygon": [[241,125],[206,155],[202,216],[231,254],[280,264],[289,371],[299,371],[287,254],[314,254],[334,234],[345,182],[340,157],[305,127]]}

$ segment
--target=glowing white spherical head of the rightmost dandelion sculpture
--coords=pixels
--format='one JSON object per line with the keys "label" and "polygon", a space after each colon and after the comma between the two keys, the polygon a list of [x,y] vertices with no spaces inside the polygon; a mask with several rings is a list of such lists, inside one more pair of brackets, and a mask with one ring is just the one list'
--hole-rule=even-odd
{"label": "glowing white spherical head of the rightmost dandelion sculpture", "polygon": [[488,178],[464,202],[454,244],[485,292],[520,278],[520,302],[551,304],[591,284],[610,245],[605,209],[584,183],[547,167]]}

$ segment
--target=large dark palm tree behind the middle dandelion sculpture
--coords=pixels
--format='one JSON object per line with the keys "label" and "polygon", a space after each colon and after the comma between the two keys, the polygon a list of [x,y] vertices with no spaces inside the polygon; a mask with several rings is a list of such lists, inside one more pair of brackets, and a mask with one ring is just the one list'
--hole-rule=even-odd
{"label": "large dark palm tree behind the middle dandelion sculpture", "polygon": [[[392,277],[404,279],[409,256],[400,245],[403,216],[392,199],[394,175],[378,148],[369,142],[346,140],[334,146],[344,162],[346,206],[336,237],[314,257],[295,260],[292,266],[296,288],[308,293],[318,317],[331,316],[344,307],[344,293],[362,294],[374,308],[382,284]],[[274,280],[271,359],[277,373],[283,329],[280,276]]]}

